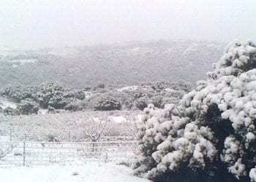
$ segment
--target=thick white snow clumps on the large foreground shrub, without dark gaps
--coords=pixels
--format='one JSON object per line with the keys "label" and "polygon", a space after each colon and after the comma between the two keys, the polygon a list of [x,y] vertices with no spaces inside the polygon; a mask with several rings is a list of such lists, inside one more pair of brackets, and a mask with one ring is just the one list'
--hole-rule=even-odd
{"label": "thick white snow clumps on the large foreground shrub, without dark gaps", "polygon": [[[154,106],[146,108],[146,126],[140,131],[143,140],[139,149],[147,149],[150,143],[154,149],[147,154],[157,162],[157,167],[144,171],[146,177],[167,170],[175,171],[184,161],[189,161],[189,167],[203,168],[205,159],[211,161],[216,157],[211,130],[200,126],[197,119],[189,118],[196,114],[200,119],[199,116],[214,105],[222,112],[222,119],[228,119],[235,132],[246,139],[240,143],[233,135],[227,136],[222,162],[227,163],[227,170],[236,178],[248,175],[241,159],[244,157],[241,146],[248,148],[256,138],[252,123],[256,118],[255,53],[255,45],[250,41],[230,44],[225,55],[214,65],[215,70],[207,73],[208,79],[197,82],[196,89],[184,95],[179,106],[171,105],[163,110]],[[255,171],[252,169],[249,177],[256,181]]]}

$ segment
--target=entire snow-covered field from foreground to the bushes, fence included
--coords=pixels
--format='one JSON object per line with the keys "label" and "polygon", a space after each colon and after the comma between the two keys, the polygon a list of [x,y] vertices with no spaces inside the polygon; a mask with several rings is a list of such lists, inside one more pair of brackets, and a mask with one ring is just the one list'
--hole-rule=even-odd
{"label": "entire snow-covered field from foreground to the bushes, fence included", "polygon": [[[148,181],[116,165],[129,165],[138,121],[140,113],[130,111],[3,116],[0,146],[5,151],[12,144],[13,149],[1,158],[0,182]],[[83,130],[101,122],[109,125],[99,141],[83,138]],[[49,141],[50,136],[61,142]]]}

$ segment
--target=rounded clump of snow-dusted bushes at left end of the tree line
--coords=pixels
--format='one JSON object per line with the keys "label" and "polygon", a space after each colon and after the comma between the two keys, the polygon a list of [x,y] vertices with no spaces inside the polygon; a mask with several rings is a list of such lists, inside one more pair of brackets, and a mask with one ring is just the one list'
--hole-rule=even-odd
{"label": "rounded clump of snow-dusted bushes at left end of the tree line", "polygon": [[[20,108],[20,114],[31,114],[36,113],[35,109],[41,106],[42,108],[64,108],[69,104],[67,108],[69,110],[80,110],[82,108],[73,106],[78,105],[78,100],[84,100],[86,97],[83,90],[73,90],[72,88],[66,87],[59,82],[43,82],[38,86],[23,86],[19,84],[7,85],[0,90],[0,95],[10,99],[16,103]],[[39,106],[37,106],[39,104]],[[30,105],[30,106],[29,106]],[[34,105],[35,108],[28,108]],[[72,106],[70,106],[72,105]],[[26,108],[31,109],[30,111],[24,111]],[[8,112],[6,112],[8,113]]]}

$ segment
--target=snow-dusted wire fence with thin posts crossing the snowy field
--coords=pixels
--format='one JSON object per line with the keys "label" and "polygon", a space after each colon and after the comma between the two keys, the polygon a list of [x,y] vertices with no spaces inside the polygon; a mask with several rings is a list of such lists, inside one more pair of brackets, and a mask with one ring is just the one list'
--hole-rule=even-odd
{"label": "snow-dusted wire fence with thin posts crossing the snowy field", "polygon": [[[1,142],[0,167],[50,164],[85,164],[86,162],[124,162],[136,149],[135,141],[113,142]],[[0,156],[1,156],[0,154]]]}

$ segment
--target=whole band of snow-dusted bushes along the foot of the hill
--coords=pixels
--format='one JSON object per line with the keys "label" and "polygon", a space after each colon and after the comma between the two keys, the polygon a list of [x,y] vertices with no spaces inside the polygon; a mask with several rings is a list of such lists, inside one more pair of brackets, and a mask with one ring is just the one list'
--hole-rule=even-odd
{"label": "whole band of snow-dusted bushes along the foot of the hill", "polygon": [[84,90],[74,90],[59,82],[44,82],[29,87],[10,84],[1,88],[0,95],[17,104],[17,108],[2,108],[2,112],[15,115],[37,114],[39,108],[47,108],[48,112],[53,113],[56,109],[143,110],[150,103],[163,108],[166,103],[178,103],[191,89],[192,84],[188,82],[149,82],[121,89],[105,87],[101,83]]}

